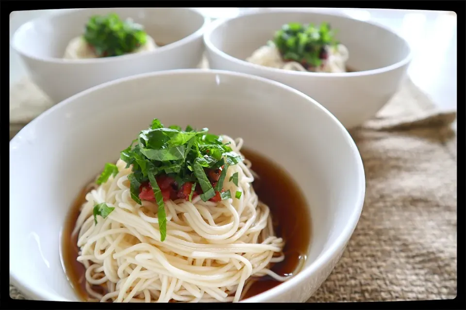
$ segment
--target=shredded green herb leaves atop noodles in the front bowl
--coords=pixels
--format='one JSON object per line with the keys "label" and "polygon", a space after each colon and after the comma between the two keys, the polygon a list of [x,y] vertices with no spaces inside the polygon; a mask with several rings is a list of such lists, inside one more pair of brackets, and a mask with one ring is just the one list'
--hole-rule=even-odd
{"label": "shredded green herb leaves atop noodles in the front bowl", "polygon": [[[157,217],[161,241],[166,238],[166,212],[164,196],[157,184],[157,177],[172,178],[178,189],[186,182],[193,183],[187,197],[189,201],[192,200],[197,184],[202,189],[200,198],[204,202],[213,198],[217,191],[220,192],[221,199],[227,199],[231,198],[230,191],[221,190],[228,167],[243,160],[231,147],[223,144],[221,137],[210,134],[207,128],[200,131],[189,125],[184,131],[176,125],[166,128],[158,119],[154,119],[149,129],[142,130],[137,139],[121,151],[120,158],[126,162],[127,168],[132,166],[128,180],[133,201],[141,204],[139,198],[141,185],[150,184],[152,188],[159,206]],[[207,172],[216,171],[222,166],[223,170],[214,188]]]}

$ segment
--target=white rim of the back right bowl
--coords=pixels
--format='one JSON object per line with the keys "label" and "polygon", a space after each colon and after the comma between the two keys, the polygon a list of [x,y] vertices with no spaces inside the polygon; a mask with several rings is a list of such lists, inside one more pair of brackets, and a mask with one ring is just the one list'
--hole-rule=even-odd
{"label": "white rim of the back right bowl", "polygon": [[[204,31],[203,39],[204,39],[204,45],[211,50],[212,52],[216,53],[218,56],[225,58],[231,62],[235,62],[236,64],[247,66],[253,69],[257,70],[263,70],[265,72],[269,73],[275,73],[275,74],[288,74],[291,76],[308,76],[308,77],[319,77],[319,78],[342,78],[342,77],[359,77],[359,76],[369,76],[369,75],[374,75],[374,74],[380,74],[383,72],[388,72],[395,70],[399,67],[402,67],[406,65],[407,63],[411,62],[413,58],[413,51],[409,43],[401,37],[398,33],[395,31],[391,30],[390,28],[386,27],[385,25],[382,25],[378,22],[375,21],[361,21],[363,23],[369,24],[371,26],[379,27],[382,28],[385,31],[388,31],[390,33],[393,33],[396,35],[400,40],[402,40],[406,46],[408,47],[408,55],[402,59],[399,62],[393,63],[391,65],[381,67],[381,68],[376,68],[376,69],[371,69],[371,70],[365,70],[365,71],[355,71],[355,72],[342,72],[342,73],[327,73],[327,72],[303,72],[303,71],[293,71],[293,70],[285,70],[285,69],[279,69],[279,68],[271,68],[271,67],[266,67],[262,66],[259,64],[247,62],[245,60],[233,57],[224,51],[220,50],[214,44],[212,43],[210,37],[212,35],[212,32],[214,32],[220,25],[226,23],[229,20],[237,19],[237,18],[242,18],[245,16],[251,16],[251,15],[270,15],[270,14],[277,14],[277,13],[300,13],[303,15],[321,15],[321,16],[337,16],[341,17],[343,19],[351,19],[351,20],[357,20],[361,21],[355,18],[351,18],[350,16],[340,14],[338,12],[322,12],[322,11],[306,11],[306,10],[297,10],[297,9],[288,9],[288,8],[280,8],[280,9],[270,9],[267,11],[262,11],[262,12],[256,12],[256,11],[246,11],[242,13],[239,16],[235,17],[230,17],[230,18],[222,18],[222,19],[217,19],[213,21],[207,29]],[[265,43],[264,43],[265,44]]]}

